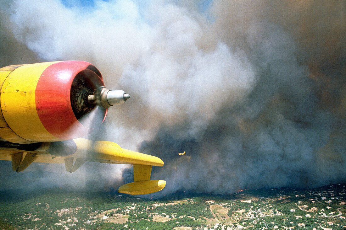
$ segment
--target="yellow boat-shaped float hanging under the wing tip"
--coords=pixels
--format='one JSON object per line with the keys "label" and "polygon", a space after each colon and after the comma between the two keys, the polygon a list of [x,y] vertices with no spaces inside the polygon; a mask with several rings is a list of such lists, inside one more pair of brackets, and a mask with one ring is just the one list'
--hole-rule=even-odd
{"label": "yellow boat-shaped float hanging under the wing tip", "polygon": [[130,195],[143,195],[161,191],[166,186],[166,181],[137,181],[124,184],[119,187],[118,192]]}

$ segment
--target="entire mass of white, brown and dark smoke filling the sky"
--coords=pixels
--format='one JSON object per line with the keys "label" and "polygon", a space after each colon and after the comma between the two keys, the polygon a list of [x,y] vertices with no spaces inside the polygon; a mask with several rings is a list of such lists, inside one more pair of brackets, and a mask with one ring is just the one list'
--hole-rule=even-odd
{"label": "entire mass of white, brown and dark smoke filling the sky", "polygon": [[[156,196],[346,181],[345,1],[6,4],[3,66],[86,60],[131,95],[111,108],[104,139],[163,159]],[[55,174],[63,166],[35,167],[42,184],[77,187]],[[124,168],[89,164],[75,177],[109,190],[131,182]]]}

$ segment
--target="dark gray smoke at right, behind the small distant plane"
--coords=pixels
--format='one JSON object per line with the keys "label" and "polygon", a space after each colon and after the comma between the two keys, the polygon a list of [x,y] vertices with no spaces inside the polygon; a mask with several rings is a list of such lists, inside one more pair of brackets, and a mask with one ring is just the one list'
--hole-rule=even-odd
{"label": "dark gray smoke at right, behind the small distant plane", "polygon": [[[213,29],[229,47],[245,51],[256,83],[235,105],[222,103],[197,137],[189,135],[186,119],[162,125],[142,142],[140,151],[166,164],[152,175],[167,181],[155,195],[345,182],[344,3],[297,2],[293,13],[275,1],[213,3]],[[317,12],[323,19],[313,18]],[[225,96],[215,92],[215,99]],[[182,151],[187,155],[177,155]]]}

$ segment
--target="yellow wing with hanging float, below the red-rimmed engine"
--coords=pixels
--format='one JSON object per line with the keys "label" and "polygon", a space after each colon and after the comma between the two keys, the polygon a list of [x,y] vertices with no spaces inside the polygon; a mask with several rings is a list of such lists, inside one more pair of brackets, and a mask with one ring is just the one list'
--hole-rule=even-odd
{"label": "yellow wing with hanging float, below the red-rimmed engine", "polygon": [[75,172],[85,161],[109,164],[133,164],[134,182],[120,186],[119,192],[131,195],[148,194],[162,190],[166,182],[150,180],[152,166],[163,166],[163,161],[144,153],[121,148],[109,141],[90,141],[84,138],[74,139],[76,151],[67,156],[55,155],[49,146],[35,151],[21,151],[15,148],[0,148],[0,160],[12,161],[12,169],[23,171],[32,162],[65,163],[66,170]]}

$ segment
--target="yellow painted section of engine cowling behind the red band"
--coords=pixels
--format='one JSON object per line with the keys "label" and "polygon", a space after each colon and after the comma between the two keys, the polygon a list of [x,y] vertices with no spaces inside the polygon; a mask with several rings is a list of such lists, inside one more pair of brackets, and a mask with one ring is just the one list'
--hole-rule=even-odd
{"label": "yellow painted section of engine cowling behind the red band", "polygon": [[[54,63],[56,62],[20,66],[13,70],[3,82],[0,95],[2,115],[11,130],[22,139],[35,142],[40,139],[59,141],[41,123],[35,102],[38,79],[43,71]],[[2,138],[8,140],[9,137]],[[21,138],[17,141],[12,138],[11,142],[21,143]]]}

